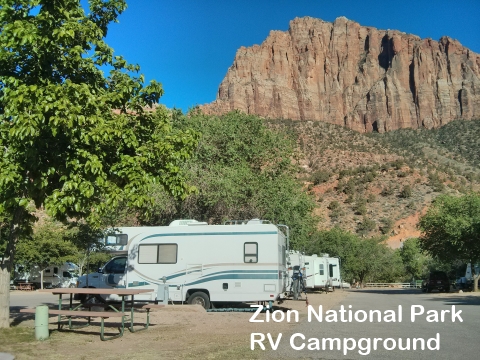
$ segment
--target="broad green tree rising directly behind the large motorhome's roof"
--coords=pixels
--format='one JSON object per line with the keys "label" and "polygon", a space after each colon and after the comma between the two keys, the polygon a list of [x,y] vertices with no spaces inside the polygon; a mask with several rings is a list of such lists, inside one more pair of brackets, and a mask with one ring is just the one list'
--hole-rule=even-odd
{"label": "broad green tree rising directly behind the large motorhome's roof", "polygon": [[168,224],[193,218],[211,224],[228,219],[260,218],[288,225],[291,245],[301,249],[315,231],[314,199],[295,178],[294,138],[270,129],[263,119],[237,111],[204,115],[173,112],[179,129],[201,131],[195,155],[184,168],[198,192],[174,201],[159,189],[153,194],[155,214],[145,224]]}

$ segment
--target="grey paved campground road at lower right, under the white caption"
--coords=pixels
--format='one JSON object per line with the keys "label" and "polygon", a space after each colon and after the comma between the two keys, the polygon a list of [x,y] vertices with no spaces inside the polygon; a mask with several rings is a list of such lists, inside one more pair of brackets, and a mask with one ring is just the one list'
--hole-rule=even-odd
{"label": "grey paved campground road at lower right, under the white caption", "polygon": [[[280,344],[276,351],[268,350],[264,352],[267,359],[454,359],[462,357],[465,359],[478,358],[480,344],[478,342],[478,332],[480,325],[480,296],[471,293],[422,293],[417,289],[370,289],[370,290],[352,290],[350,294],[337,306],[332,308],[336,310],[338,316],[340,313],[340,306],[348,310],[351,305],[353,311],[364,310],[367,313],[369,310],[380,310],[384,314],[385,310],[395,310],[398,313],[398,306],[402,305],[402,322],[318,322],[313,318],[312,322],[308,322],[307,318],[301,318],[293,331],[283,333]],[[425,309],[425,313],[421,316],[415,317],[415,322],[411,321],[411,309],[413,305],[421,305]],[[455,306],[456,311],[461,310],[461,318],[463,322],[456,318],[452,322],[450,313],[446,313],[445,322],[427,322],[427,311],[436,310],[441,314],[442,310],[451,310],[452,305]],[[419,308],[414,308],[419,310]],[[318,308],[315,309],[318,312]],[[430,315],[433,312],[429,313]],[[361,315],[361,313],[359,313]],[[361,317],[360,317],[361,319]],[[430,320],[433,317],[430,317]],[[398,321],[398,320],[397,320]],[[272,335],[276,336],[272,324]],[[300,333],[305,336],[305,340],[301,337],[296,337],[294,346],[300,347],[303,343],[305,348],[303,350],[294,350],[290,344],[291,335]],[[427,340],[440,337],[440,350],[429,350],[427,348]],[[320,346],[322,345],[322,338],[339,338],[341,341],[341,350],[338,351],[336,346],[334,350],[308,350],[308,339],[320,339]],[[354,350],[347,351],[344,354],[344,339],[353,338],[358,345],[360,338],[369,338],[371,340],[371,349],[365,350],[367,340],[363,340],[361,345],[364,347],[363,353],[359,353],[359,347]],[[377,350],[373,350],[373,338],[382,338],[379,340]],[[383,341],[387,338],[395,339],[397,347],[393,350],[385,350]],[[425,339],[425,350],[399,350],[399,338],[405,341],[407,338],[423,338]],[[273,339],[274,341],[276,338]],[[386,343],[387,348],[392,346],[392,341]],[[430,343],[434,345],[434,342]],[[268,341],[265,341],[267,349],[270,349]],[[348,346],[352,346],[350,341]],[[403,342],[405,346],[405,342]],[[258,348],[258,347],[257,347]],[[360,349],[361,350],[361,349]],[[259,350],[255,350],[259,352]]]}

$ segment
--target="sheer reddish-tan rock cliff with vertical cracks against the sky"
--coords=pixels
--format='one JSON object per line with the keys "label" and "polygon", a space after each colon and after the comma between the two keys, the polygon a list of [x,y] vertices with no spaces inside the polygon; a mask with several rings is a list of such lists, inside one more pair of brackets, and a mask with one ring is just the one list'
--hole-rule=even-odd
{"label": "sheer reddish-tan rock cliff with vertical cracks against the sky", "polygon": [[296,18],[287,32],[241,47],[217,99],[201,108],[360,132],[439,127],[480,119],[480,55],[448,37]]}

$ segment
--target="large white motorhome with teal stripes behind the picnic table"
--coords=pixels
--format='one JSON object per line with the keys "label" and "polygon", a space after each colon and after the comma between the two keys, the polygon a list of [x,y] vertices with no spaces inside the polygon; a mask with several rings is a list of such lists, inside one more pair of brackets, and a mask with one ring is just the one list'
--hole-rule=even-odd
{"label": "large white motorhome with teal stripes behind the picnic table", "polygon": [[205,308],[211,302],[274,301],[283,297],[287,281],[288,231],[282,227],[254,219],[120,228],[106,243],[117,256],[80,277],[78,287],[151,288],[154,293],[135,299],[153,301],[166,284],[169,301]]}

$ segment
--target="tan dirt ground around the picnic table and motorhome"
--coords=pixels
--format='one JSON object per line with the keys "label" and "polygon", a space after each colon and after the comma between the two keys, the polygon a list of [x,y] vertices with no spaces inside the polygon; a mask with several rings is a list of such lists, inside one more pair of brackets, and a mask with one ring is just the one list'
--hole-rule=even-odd
{"label": "tan dirt ground around the picnic table and motorhome", "polygon": [[[352,290],[354,291],[354,290]],[[308,304],[324,310],[330,309],[348,296],[348,290],[308,294]],[[275,304],[283,310],[297,310],[306,316],[307,301],[287,300]],[[56,317],[50,317],[50,339],[39,342],[33,335],[29,341],[3,344],[0,352],[22,359],[261,359],[260,351],[250,350],[250,334],[253,332],[276,335],[293,330],[295,323],[249,322],[253,313],[206,312],[200,306],[169,305],[151,312],[150,328],[131,333],[125,330],[123,337],[101,341],[100,319],[94,326],[77,330],[56,330]],[[137,327],[145,321],[146,314],[135,317]],[[258,319],[265,320],[265,313]],[[34,334],[33,315],[12,314],[13,325],[18,329],[29,328]],[[82,322],[83,320],[78,320]],[[108,322],[106,326],[116,326]],[[300,320],[301,321],[301,320]],[[98,326],[97,326],[98,325]],[[111,328],[111,334],[116,328]]]}

